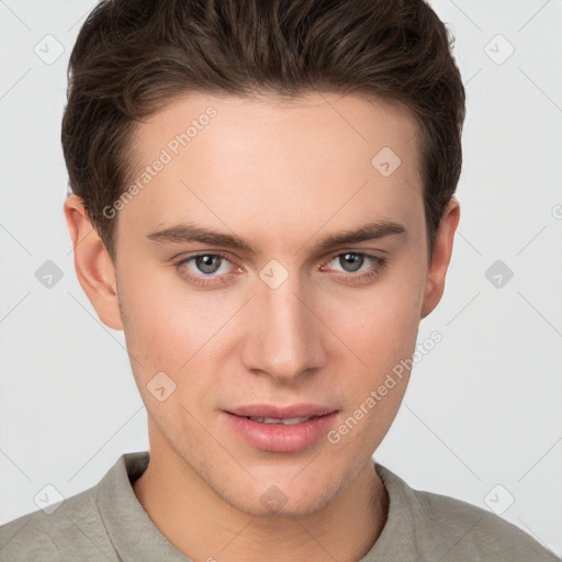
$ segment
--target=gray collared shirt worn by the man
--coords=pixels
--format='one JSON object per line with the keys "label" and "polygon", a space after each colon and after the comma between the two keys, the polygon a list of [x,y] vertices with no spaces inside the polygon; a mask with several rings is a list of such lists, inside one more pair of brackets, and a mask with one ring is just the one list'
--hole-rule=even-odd
{"label": "gray collared shirt worn by the man", "polygon": [[[47,515],[0,527],[0,561],[189,562],[160,533],[133,491],[147,452],[123,454],[100,483]],[[411,488],[380,464],[389,492],[386,524],[359,562],[555,562],[526,532],[470,504]]]}

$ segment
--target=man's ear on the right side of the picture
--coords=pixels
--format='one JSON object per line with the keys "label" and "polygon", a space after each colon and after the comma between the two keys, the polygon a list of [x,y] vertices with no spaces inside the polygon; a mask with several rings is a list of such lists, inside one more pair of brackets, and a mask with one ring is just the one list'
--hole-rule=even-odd
{"label": "man's ear on the right side of the picture", "polygon": [[460,205],[451,198],[439,222],[437,237],[431,252],[431,262],[427,272],[426,286],[424,292],[424,304],[422,306],[422,318],[425,318],[441,300],[445,290],[445,277],[449,268],[452,254],[454,232],[459,225]]}

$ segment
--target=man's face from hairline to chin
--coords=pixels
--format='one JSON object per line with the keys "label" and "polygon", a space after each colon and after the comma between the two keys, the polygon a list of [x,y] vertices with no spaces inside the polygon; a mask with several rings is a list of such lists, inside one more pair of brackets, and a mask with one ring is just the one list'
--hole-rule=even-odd
{"label": "man's face from hairline to chin", "polygon": [[416,130],[401,106],[325,93],[192,95],[136,132],[115,276],[153,454],[238,509],[323,507],[396,414],[407,372],[378,389],[445,278]]}

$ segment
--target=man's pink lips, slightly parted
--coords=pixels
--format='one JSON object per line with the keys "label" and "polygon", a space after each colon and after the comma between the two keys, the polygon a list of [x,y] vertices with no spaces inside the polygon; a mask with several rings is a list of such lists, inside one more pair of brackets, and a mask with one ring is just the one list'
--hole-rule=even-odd
{"label": "man's pink lips, slightly parted", "polygon": [[[251,405],[222,412],[226,424],[248,445],[270,452],[297,452],[311,447],[334,426],[338,411],[313,404],[291,406]],[[310,417],[294,425],[265,424],[251,417]]]}

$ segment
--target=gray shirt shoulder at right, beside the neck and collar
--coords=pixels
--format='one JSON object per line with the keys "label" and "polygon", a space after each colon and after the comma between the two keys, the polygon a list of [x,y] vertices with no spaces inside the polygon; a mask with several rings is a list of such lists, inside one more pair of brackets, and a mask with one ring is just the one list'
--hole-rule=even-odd
{"label": "gray shirt shoulder at right, beside the neck and collar", "polygon": [[[559,559],[525,531],[483,508],[452,497],[418,491],[376,465],[391,506],[411,529],[424,559],[494,562],[557,562]],[[397,510],[397,512],[396,512]]]}

